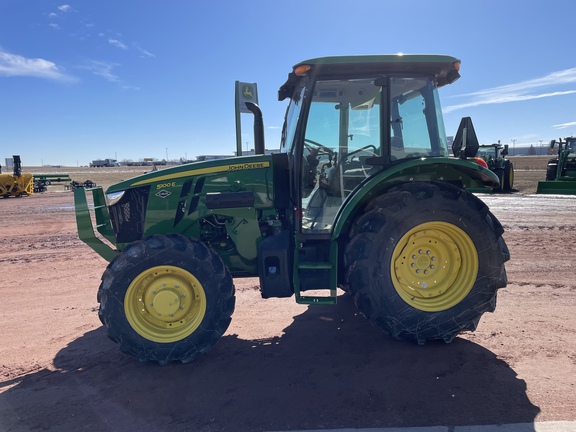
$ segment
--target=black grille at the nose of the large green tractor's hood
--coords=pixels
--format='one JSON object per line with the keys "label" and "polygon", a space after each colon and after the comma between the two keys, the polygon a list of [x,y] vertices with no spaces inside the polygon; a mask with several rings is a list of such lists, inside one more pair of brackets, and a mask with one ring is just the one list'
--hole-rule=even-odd
{"label": "black grille at the nose of the large green tractor's hood", "polygon": [[109,207],[116,243],[130,243],[142,238],[150,186],[128,189]]}

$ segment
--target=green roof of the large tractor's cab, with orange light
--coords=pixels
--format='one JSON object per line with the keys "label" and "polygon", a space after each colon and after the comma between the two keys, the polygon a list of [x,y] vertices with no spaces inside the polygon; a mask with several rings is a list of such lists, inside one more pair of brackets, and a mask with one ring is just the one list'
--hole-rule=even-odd
{"label": "green roof of the large tractor's cab, with orange light", "polygon": [[317,57],[294,65],[288,80],[278,90],[278,99],[292,96],[294,86],[301,76],[362,77],[367,75],[414,74],[433,75],[438,87],[451,84],[460,78],[460,60],[438,54],[383,54]]}

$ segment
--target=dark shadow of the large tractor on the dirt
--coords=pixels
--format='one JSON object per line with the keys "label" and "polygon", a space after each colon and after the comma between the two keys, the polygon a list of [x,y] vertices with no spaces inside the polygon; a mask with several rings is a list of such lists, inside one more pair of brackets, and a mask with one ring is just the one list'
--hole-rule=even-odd
{"label": "dark shadow of the large tractor on the dirt", "polygon": [[[289,300],[287,300],[289,301]],[[265,318],[264,318],[265,319]],[[290,431],[525,423],[526,383],[464,339],[394,341],[343,296],[309,307],[281,337],[226,335],[190,364],[139,363],[104,329],[0,394],[0,429]],[[11,383],[4,383],[4,386]],[[0,390],[2,384],[0,383]]]}

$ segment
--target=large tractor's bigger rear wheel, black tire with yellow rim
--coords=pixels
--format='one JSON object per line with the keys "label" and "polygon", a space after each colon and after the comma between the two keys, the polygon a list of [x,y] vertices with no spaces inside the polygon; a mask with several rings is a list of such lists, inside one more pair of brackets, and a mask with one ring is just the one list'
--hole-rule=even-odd
{"label": "large tractor's bigger rear wheel, black tire with yellow rim", "polygon": [[451,342],[473,331],[506,286],[503,229],[474,195],[408,183],[372,200],[345,252],[356,306],[396,339]]}

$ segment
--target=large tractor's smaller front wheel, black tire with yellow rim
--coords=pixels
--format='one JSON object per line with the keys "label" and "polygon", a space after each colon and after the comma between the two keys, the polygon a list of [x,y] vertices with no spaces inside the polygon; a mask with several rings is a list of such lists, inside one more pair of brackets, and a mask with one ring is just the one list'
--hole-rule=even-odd
{"label": "large tractor's smaller front wheel, black tire with yellow rim", "polygon": [[110,262],[99,317],[120,350],[140,361],[187,363],[212,348],[234,311],[234,284],[220,257],[182,235],[134,242]]}

